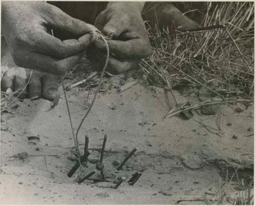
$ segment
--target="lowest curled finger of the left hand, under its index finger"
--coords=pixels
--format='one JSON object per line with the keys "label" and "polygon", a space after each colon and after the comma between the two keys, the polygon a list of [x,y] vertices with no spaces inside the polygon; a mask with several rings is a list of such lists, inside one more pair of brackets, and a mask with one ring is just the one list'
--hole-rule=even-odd
{"label": "lowest curled finger of the left hand, under its index finger", "polygon": [[65,59],[55,59],[29,50],[19,50],[15,55],[15,64],[20,67],[63,75],[81,59],[83,53]]}

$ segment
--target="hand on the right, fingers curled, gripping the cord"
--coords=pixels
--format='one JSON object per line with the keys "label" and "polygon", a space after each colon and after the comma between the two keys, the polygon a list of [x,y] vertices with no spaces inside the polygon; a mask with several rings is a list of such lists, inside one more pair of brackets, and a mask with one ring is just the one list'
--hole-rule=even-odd
{"label": "hand on the right, fingers curled, gripping the cord", "polygon": [[[142,58],[152,52],[146,28],[141,17],[143,3],[110,2],[96,18],[94,25],[106,36],[110,49],[107,70],[121,73],[133,69]],[[102,70],[106,58],[106,47],[101,39],[88,49],[87,55],[95,70]]]}

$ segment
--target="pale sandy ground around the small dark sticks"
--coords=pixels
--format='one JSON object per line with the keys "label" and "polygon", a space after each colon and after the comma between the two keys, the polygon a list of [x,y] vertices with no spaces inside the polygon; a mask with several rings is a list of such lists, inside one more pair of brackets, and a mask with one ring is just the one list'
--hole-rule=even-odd
{"label": "pale sandy ground around the small dark sticks", "polygon": [[[105,172],[109,178],[125,176],[118,189],[113,183],[85,181],[75,183],[79,171],[69,178],[68,171],[75,164],[70,160],[74,151],[70,122],[63,95],[50,112],[50,102],[44,99],[27,101],[16,113],[1,115],[1,173],[0,202],[19,204],[204,204],[202,196],[213,199],[232,168],[240,169],[240,178],[253,175],[253,105],[243,112],[233,112],[222,106],[222,133],[212,132],[198,123],[217,128],[218,115],[183,120],[179,116],[164,119],[174,106],[172,95],[163,89],[139,82],[119,93],[120,87],[131,78],[117,75],[103,83],[95,105],[80,133],[80,150],[84,136],[90,138],[90,158],[98,158],[103,136],[108,135],[104,155]],[[182,97],[179,102],[196,97]],[[68,92],[74,127],[86,112],[88,91],[76,88]],[[92,97],[92,95],[90,95]],[[238,105],[233,105],[235,108]],[[241,106],[242,107],[242,106]],[[228,126],[227,123],[231,123]],[[233,139],[236,135],[238,138]],[[36,136],[39,140],[28,140]],[[124,159],[137,148],[135,155],[123,169],[116,170],[114,161]],[[24,160],[11,158],[27,152]],[[83,167],[84,174],[95,164]],[[142,172],[139,181],[130,186],[127,180]],[[95,176],[99,175],[99,172]],[[235,178],[234,178],[235,179]],[[226,187],[232,197],[238,183]],[[179,200],[186,200],[177,202]]]}

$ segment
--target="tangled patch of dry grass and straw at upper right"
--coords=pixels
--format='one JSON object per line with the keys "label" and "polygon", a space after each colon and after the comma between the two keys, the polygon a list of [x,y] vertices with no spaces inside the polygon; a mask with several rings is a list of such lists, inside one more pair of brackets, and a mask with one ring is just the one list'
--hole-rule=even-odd
{"label": "tangled patch of dry grass and straw at upper right", "polygon": [[[150,84],[174,89],[207,88],[227,99],[252,99],[254,3],[207,3],[201,27],[225,28],[170,34],[146,22],[153,54],[140,63]],[[242,54],[242,55],[241,55]]]}

